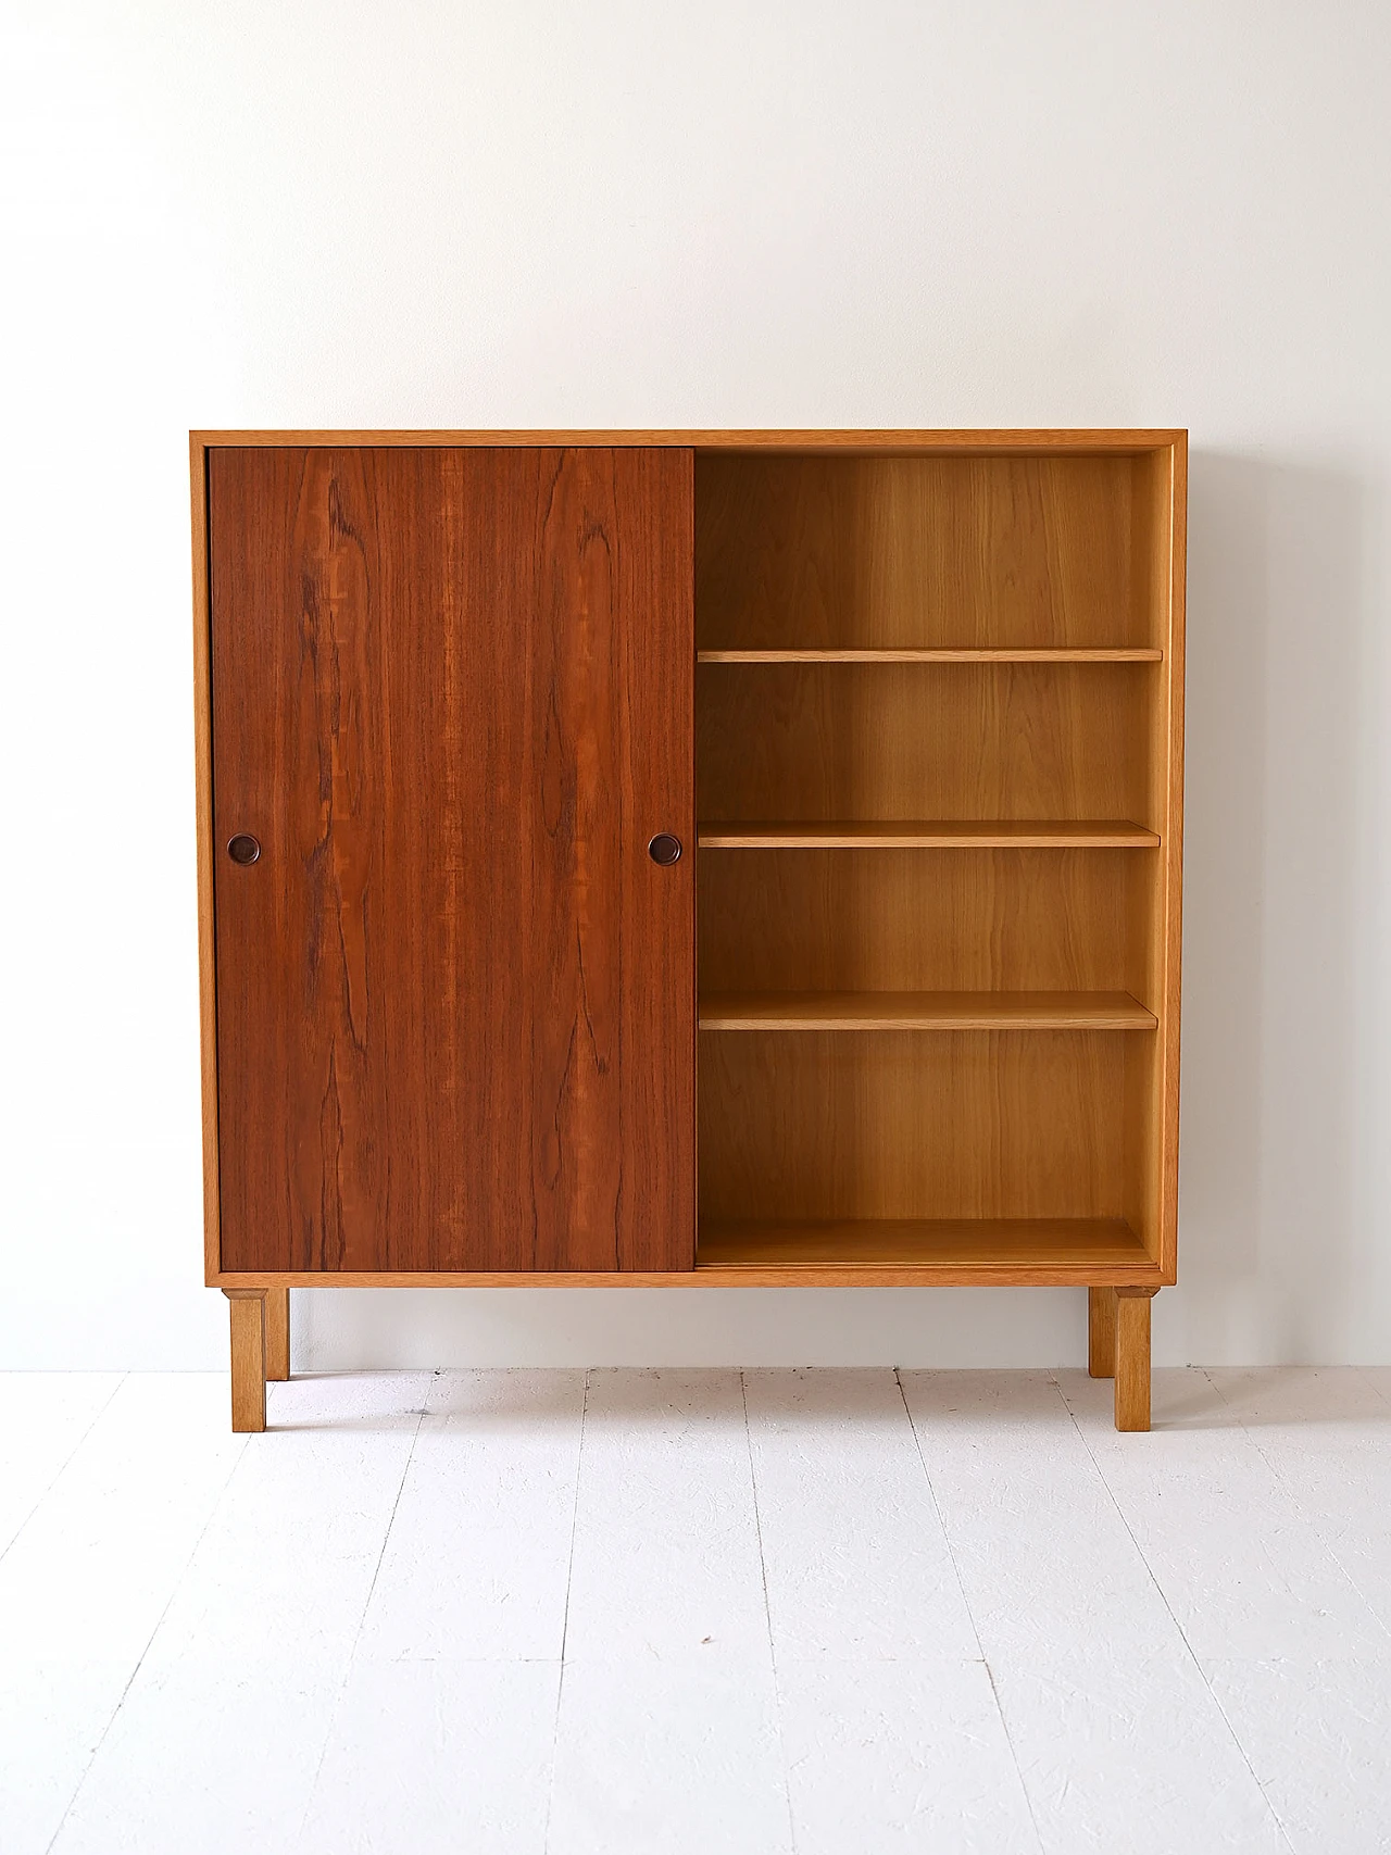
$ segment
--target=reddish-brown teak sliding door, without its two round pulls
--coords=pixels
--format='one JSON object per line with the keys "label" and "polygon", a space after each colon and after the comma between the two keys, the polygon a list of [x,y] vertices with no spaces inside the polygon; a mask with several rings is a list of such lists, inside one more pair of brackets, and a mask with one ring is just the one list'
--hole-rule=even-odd
{"label": "reddish-brown teak sliding door, without its two round pulls", "polygon": [[210,493],[223,1269],[690,1269],[690,453]]}

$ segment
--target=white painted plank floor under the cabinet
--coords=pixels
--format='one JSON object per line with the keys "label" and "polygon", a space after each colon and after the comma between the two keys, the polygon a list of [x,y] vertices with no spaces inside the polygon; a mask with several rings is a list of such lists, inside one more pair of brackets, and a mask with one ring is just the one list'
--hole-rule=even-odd
{"label": "white painted plank floor under the cabinet", "polygon": [[1391,1848],[1391,1369],[0,1376],[4,1855]]}

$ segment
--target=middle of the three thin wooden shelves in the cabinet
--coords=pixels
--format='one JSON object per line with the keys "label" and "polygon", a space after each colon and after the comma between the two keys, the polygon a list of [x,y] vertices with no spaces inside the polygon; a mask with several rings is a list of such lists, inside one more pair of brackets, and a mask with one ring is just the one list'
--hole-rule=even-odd
{"label": "middle of the three thin wooden shelves in the cabinet", "polygon": [[1152,850],[1157,831],[1126,818],[734,818],[697,825],[701,850]]}

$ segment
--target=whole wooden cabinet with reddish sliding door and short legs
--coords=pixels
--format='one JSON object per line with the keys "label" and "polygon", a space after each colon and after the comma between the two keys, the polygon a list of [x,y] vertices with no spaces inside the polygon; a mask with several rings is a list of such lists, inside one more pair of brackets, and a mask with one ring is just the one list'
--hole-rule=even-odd
{"label": "whole wooden cabinet with reddish sliding door and short legs", "polygon": [[193,436],[239,1426],[291,1284],[540,1280],[1087,1287],[1148,1426],[1185,460],[1176,430]]}

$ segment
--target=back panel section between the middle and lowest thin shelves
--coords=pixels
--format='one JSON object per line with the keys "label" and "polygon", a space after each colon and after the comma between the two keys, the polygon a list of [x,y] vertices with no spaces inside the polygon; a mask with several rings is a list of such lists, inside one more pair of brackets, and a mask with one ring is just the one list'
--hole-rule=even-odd
{"label": "back panel section between the middle and lowest thin shelves", "polygon": [[707,850],[701,989],[1128,991],[1148,1004],[1150,861],[1129,850]]}

